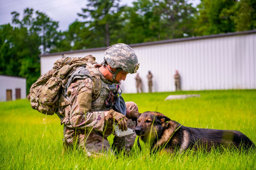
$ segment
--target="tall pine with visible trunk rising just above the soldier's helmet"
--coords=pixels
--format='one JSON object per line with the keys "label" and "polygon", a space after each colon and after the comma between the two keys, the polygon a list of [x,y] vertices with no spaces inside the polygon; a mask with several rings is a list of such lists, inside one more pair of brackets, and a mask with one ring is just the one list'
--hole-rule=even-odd
{"label": "tall pine with visible trunk rising just above the soldier's helmet", "polygon": [[87,21],[83,22],[83,30],[86,33],[80,34],[80,38],[87,40],[88,43],[85,44],[89,47],[89,43],[94,47],[102,47],[115,41],[110,40],[110,37],[114,30],[119,30],[121,26],[119,16],[123,7],[119,6],[119,2],[120,0],[89,0],[87,7],[82,8],[83,13],[78,15]]}

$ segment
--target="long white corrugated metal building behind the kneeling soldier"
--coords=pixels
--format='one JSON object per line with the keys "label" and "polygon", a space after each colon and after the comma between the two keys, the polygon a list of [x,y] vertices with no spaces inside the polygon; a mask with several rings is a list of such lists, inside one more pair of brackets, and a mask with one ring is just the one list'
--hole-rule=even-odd
{"label": "long white corrugated metal building behind the kneeling soldier", "polygon": [[[153,74],[153,92],[174,91],[175,70],[182,90],[256,89],[256,30],[130,44],[137,54],[144,92],[146,75]],[[52,69],[63,54],[92,54],[101,63],[106,47],[41,55],[41,74]],[[135,93],[135,76],[122,82],[125,93]]]}

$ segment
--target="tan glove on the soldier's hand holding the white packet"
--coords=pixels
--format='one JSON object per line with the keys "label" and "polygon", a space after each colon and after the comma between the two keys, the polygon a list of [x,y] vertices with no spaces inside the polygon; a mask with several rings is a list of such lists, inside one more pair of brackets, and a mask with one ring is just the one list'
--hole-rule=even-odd
{"label": "tan glove on the soldier's hand holding the white packet", "polygon": [[118,113],[118,112],[114,111],[113,109],[111,109],[109,111],[108,115],[105,117],[105,119],[109,120],[110,115],[118,123],[119,129],[121,129],[122,131],[127,130],[127,122],[126,122],[127,118],[123,114]]}

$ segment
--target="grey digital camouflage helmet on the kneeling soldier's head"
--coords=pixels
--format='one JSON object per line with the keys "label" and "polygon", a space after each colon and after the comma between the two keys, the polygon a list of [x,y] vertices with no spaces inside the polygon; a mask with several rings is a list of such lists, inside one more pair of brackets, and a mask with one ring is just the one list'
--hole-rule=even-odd
{"label": "grey digital camouflage helmet on the kneeling soldier's head", "polygon": [[138,58],[126,44],[114,44],[104,53],[104,61],[112,68],[121,68],[124,72],[136,73],[139,68]]}

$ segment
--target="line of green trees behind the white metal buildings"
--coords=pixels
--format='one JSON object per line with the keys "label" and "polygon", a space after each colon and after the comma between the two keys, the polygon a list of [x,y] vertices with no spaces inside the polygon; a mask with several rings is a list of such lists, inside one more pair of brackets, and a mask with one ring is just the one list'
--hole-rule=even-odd
{"label": "line of green trees behind the white metal buildings", "polygon": [[12,24],[0,25],[0,74],[27,78],[27,93],[40,76],[40,54],[115,43],[143,43],[256,29],[256,0],[88,0],[67,31],[46,13],[12,12]]}

